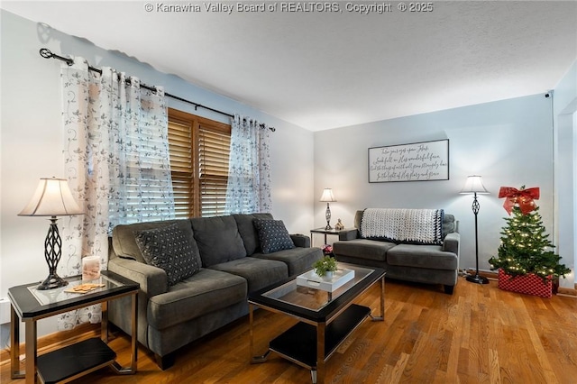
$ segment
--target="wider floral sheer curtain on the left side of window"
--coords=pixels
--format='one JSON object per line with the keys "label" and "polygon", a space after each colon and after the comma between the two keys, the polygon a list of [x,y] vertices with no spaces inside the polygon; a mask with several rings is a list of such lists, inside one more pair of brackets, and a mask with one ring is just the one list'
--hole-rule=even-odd
{"label": "wider floral sheer curtain on the left side of window", "polygon": [[[63,64],[64,160],[69,185],[85,215],[61,223],[64,249],[61,276],[81,274],[81,258],[108,260],[114,225],[174,218],[169,169],[168,118],[161,88],[140,87],[138,78],[85,59]],[[69,312],[59,329],[101,320],[99,306]]]}

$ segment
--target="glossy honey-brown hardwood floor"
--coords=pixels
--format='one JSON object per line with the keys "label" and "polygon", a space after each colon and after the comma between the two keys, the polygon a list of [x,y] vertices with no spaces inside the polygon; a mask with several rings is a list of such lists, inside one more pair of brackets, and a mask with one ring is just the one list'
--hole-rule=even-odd
{"label": "glossy honey-brown hardwood floor", "polygon": [[[577,382],[577,297],[551,299],[499,290],[497,281],[475,285],[460,278],[453,296],[443,288],[387,280],[385,321],[366,321],[327,362],[330,383],[563,383]],[[378,308],[378,285],[358,302]],[[255,345],[294,323],[264,310],[255,313]],[[94,335],[89,332],[87,336]],[[129,339],[110,343],[128,363]],[[47,350],[47,349],[45,349]],[[10,379],[3,353],[2,383]],[[139,349],[138,373],[98,370],[76,383],[309,383],[310,373],[271,353],[249,362],[248,317],[179,351],[161,371]]]}

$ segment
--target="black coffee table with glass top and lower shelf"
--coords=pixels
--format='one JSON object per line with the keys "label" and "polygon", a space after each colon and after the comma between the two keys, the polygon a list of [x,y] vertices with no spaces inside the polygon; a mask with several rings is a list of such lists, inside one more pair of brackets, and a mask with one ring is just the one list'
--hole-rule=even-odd
{"label": "black coffee table with glass top and lower shelf", "polygon": [[[263,362],[270,352],[311,370],[313,383],[325,382],[325,362],[362,322],[371,317],[383,321],[385,314],[385,270],[338,263],[340,270],[353,270],[353,279],[330,292],[315,288],[316,281],[297,277],[249,294],[252,362]],[[373,284],[380,281],[380,315],[371,308],[353,304]],[[269,350],[256,356],[253,344],[253,311],[258,306],[271,312],[298,318],[299,322],[270,341]]]}

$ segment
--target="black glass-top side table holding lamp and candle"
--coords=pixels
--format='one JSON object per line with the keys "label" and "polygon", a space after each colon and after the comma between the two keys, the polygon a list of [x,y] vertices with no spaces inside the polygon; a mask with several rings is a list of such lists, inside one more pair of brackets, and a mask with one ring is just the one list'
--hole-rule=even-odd
{"label": "black glass-top side table holding lamp and candle", "polygon": [[[67,278],[69,285],[50,290],[37,290],[38,282],[8,289],[12,304],[10,314],[10,359],[12,379],[26,379],[26,384],[36,382],[36,373],[45,383],[68,382],[78,379],[94,370],[110,365],[117,373],[136,372],[137,351],[137,301],[139,284],[111,271],[102,271],[96,280],[82,281],[81,276]],[[68,293],[65,290],[83,283],[104,284],[85,294]],[[108,347],[108,301],[131,296],[132,300],[132,359],[129,367],[121,367],[116,361],[116,353]],[[74,309],[95,304],[102,305],[100,338],[92,338],[54,352],[37,355],[36,322],[42,318],[59,315]],[[20,326],[24,322],[25,370],[20,370]]]}

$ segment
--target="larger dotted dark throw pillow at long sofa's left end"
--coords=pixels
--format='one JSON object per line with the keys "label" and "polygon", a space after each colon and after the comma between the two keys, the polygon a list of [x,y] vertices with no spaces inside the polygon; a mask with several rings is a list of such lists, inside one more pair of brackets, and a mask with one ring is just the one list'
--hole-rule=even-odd
{"label": "larger dotted dark throw pillow at long sofa's left end", "polygon": [[135,233],[144,260],[166,271],[169,286],[200,270],[197,244],[177,224]]}

